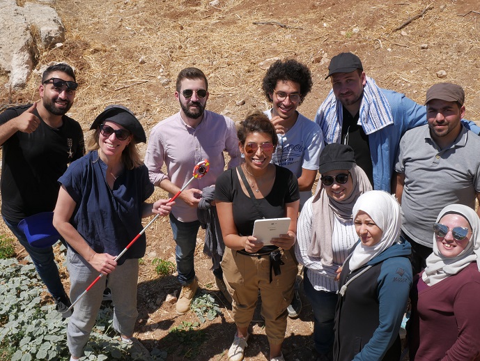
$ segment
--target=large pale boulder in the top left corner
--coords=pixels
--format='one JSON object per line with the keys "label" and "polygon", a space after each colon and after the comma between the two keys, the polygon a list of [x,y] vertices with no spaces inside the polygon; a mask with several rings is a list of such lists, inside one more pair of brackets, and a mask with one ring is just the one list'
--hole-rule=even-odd
{"label": "large pale boulder in the top left corner", "polygon": [[65,41],[65,29],[49,6],[26,3],[22,8],[15,0],[0,0],[0,9],[0,24],[8,24],[0,31],[0,68],[9,73],[12,89],[21,89],[31,74],[32,56],[40,52],[38,47],[43,50]]}

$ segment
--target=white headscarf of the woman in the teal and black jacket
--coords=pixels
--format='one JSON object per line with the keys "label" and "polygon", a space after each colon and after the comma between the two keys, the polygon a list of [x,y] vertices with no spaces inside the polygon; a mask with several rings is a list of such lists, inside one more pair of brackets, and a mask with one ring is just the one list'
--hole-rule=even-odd
{"label": "white headscarf of the woman in the teal and black jacket", "polygon": [[372,190],[362,194],[353,207],[353,217],[363,210],[382,230],[382,238],[373,246],[359,242],[350,256],[350,271],[357,270],[374,259],[385,249],[398,242],[401,229],[400,205],[392,194],[382,190]]}

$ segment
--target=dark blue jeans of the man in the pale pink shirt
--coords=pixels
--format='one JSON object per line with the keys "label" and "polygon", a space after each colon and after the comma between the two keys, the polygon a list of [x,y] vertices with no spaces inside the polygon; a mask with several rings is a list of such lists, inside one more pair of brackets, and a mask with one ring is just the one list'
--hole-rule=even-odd
{"label": "dark blue jeans of the man in the pale pink shirt", "polygon": [[185,286],[191,284],[195,278],[194,254],[196,234],[199,232],[200,222],[182,222],[170,213],[170,225],[173,239],[177,244],[175,249],[177,278],[178,282]]}

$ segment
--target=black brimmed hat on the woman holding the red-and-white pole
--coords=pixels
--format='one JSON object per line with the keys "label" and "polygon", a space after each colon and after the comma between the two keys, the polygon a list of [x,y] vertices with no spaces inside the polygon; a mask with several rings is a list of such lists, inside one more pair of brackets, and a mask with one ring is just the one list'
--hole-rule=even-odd
{"label": "black brimmed hat on the woman holding the red-and-white pole", "polygon": [[123,105],[114,104],[106,107],[104,111],[95,118],[90,130],[98,129],[104,121],[112,121],[129,130],[137,143],[146,143],[147,141],[144,127],[141,126],[140,121],[134,116],[133,112],[127,107],[123,107]]}

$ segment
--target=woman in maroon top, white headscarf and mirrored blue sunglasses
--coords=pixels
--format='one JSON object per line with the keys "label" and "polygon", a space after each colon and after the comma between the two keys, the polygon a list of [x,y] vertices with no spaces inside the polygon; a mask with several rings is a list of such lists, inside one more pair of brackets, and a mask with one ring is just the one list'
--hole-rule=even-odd
{"label": "woman in maroon top, white headscarf and mirrored blue sunglasses", "polygon": [[479,216],[451,204],[433,232],[433,253],[410,295],[410,360],[480,360]]}

